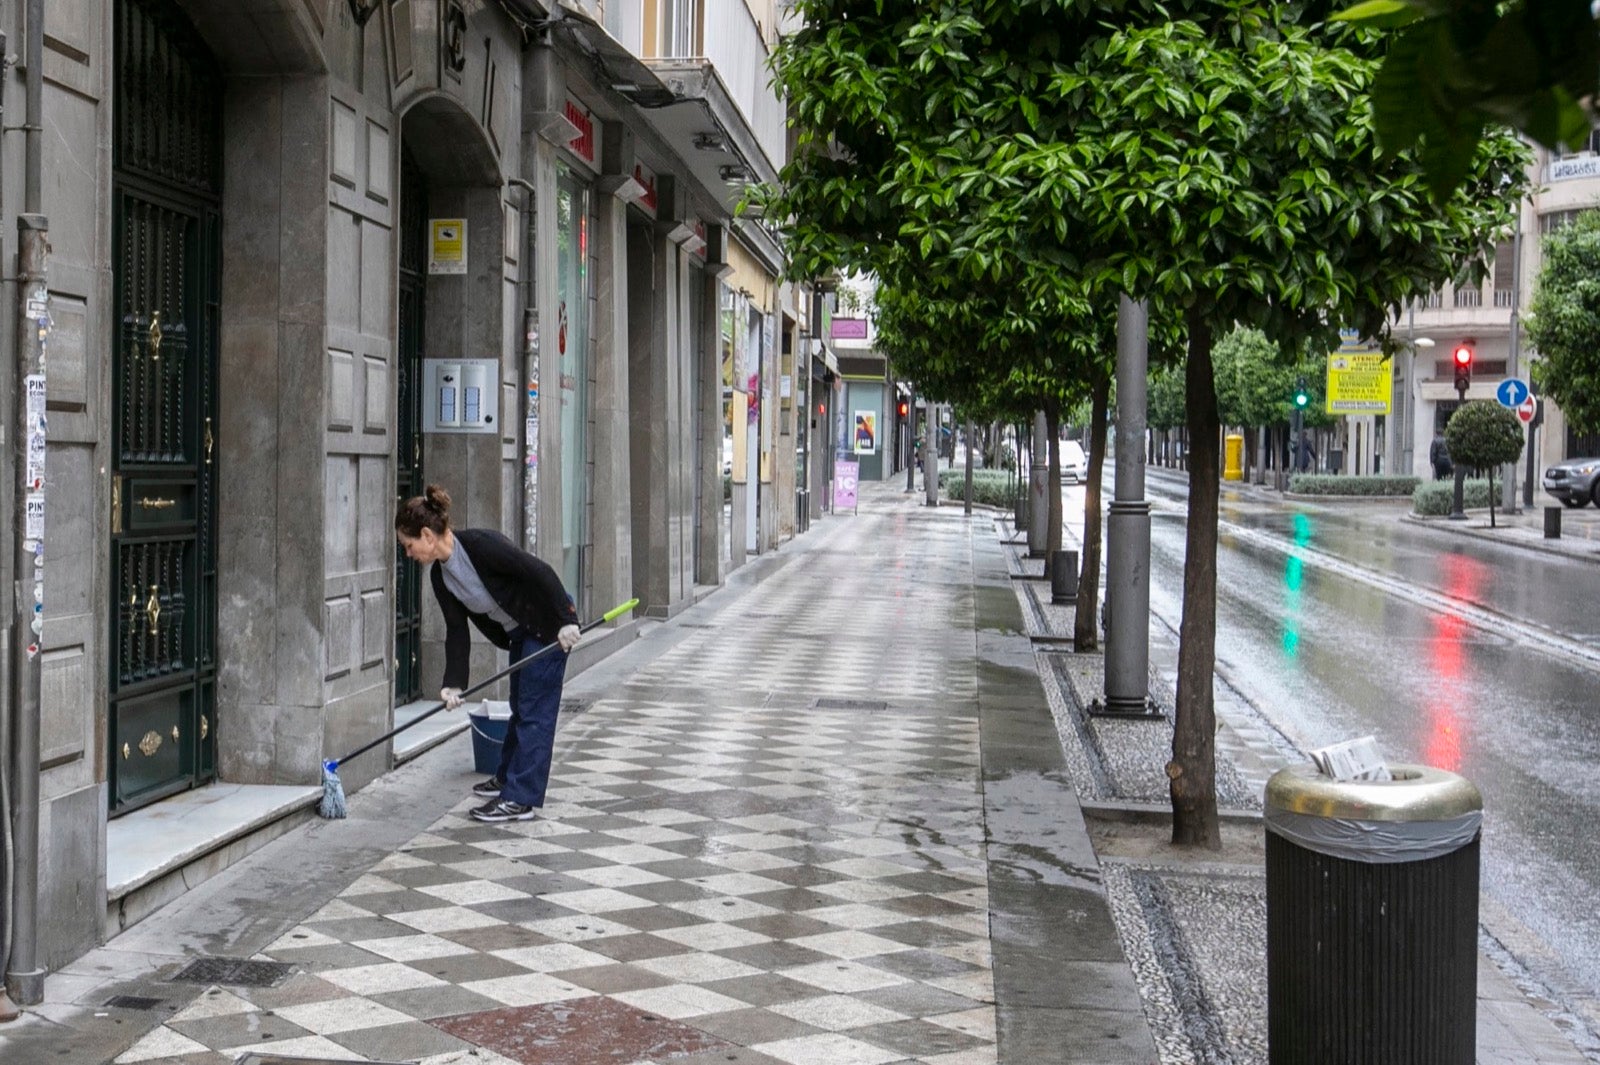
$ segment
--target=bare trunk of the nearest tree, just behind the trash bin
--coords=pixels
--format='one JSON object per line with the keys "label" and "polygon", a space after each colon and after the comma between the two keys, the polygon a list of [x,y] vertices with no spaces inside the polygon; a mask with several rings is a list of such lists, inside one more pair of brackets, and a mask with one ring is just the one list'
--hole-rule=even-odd
{"label": "bare trunk of the nearest tree, just behind the trash bin", "polygon": [[1173,760],[1173,843],[1221,849],[1216,816],[1216,513],[1221,469],[1211,329],[1189,312],[1189,528],[1184,544],[1184,617],[1178,630],[1178,707]]}

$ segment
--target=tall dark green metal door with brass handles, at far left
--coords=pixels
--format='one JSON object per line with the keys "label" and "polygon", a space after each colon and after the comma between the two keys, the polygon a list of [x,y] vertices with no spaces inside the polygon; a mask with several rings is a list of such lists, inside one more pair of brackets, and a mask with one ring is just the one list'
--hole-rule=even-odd
{"label": "tall dark green metal door with brass handles, at far left", "polygon": [[110,811],[216,776],[222,77],[170,0],[115,5]]}

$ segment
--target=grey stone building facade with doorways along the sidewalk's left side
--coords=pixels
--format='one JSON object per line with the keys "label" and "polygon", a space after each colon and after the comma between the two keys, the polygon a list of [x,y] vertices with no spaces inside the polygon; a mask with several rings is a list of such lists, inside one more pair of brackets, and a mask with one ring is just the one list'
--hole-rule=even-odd
{"label": "grey stone building facade with doorways along the sidewalk's left side", "polygon": [[[11,51],[26,10],[0,3]],[[397,496],[445,485],[458,525],[539,553],[586,616],[638,596],[667,617],[803,525],[811,297],[733,209],[782,163],[782,109],[704,58],[715,37],[760,67],[776,18],[50,0],[43,964],[138,919],[107,880],[120,817],[216,782],[312,785],[437,691],[442,622],[397,556]],[[725,509],[736,304],[755,432]],[[474,673],[494,659],[477,644]]]}

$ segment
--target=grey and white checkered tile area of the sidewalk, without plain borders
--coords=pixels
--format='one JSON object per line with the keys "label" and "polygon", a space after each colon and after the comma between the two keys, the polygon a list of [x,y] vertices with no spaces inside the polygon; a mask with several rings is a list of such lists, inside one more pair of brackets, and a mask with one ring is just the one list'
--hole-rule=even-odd
{"label": "grey and white checkered tile area of the sidewalk, without plain borders", "polygon": [[565,721],[539,819],[462,776],[118,1063],[994,1065],[970,564],[840,529]]}

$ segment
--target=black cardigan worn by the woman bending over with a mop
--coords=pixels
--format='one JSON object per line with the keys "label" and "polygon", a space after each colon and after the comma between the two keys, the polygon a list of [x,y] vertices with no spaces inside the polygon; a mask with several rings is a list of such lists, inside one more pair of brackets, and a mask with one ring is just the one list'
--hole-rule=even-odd
{"label": "black cardigan worn by the woman bending over with a mop", "polygon": [[[563,625],[578,624],[578,608],[562,587],[562,577],[547,563],[522,550],[494,529],[454,529],[456,547],[464,547],[478,580],[528,635],[554,643]],[[445,568],[429,574],[434,598],[445,612],[445,688],[467,686],[467,649],[472,638],[467,619],[501,651],[510,649],[506,628],[485,614],[470,612],[445,585]]]}

